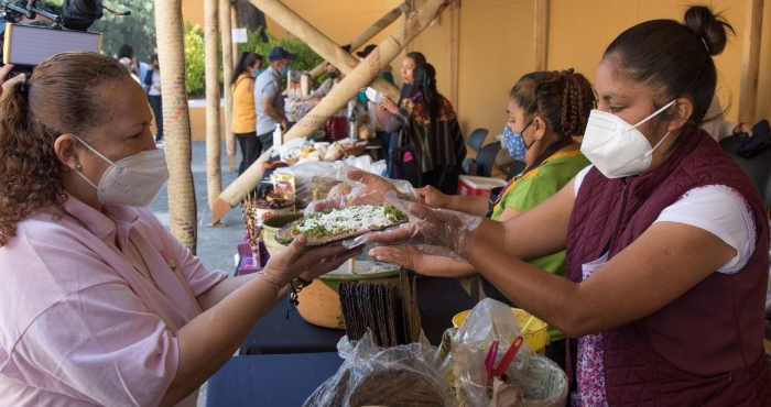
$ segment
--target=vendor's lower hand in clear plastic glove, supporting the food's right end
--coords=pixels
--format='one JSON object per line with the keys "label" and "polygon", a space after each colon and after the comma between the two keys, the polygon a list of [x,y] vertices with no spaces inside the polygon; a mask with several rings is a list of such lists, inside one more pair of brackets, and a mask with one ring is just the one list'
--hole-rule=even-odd
{"label": "vendor's lower hand in clear plastic glove, supporting the food's right end", "polygon": [[410,223],[382,232],[367,233],[343,242],[347,248],[372,245],[424,245],[427,254],[468,262],[468,253],[482,218],[447,209],[433,209],[387,195],[389,204],[410,217]]}

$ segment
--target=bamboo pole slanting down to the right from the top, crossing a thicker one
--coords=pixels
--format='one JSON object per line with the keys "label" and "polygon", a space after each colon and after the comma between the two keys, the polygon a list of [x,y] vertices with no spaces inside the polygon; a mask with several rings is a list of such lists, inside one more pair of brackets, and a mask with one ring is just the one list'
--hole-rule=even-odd
{"label": "bamboo pole slanting down to the right from the top, crossing a thicker one", "polygon": [[[359,64],[357,58],[340,48],[339,45],[329,40],[324,33],[308,24],[307,21],[292,9],[284,6],[281,0],[250,0],[250,2],[262,10],[263,13],[270,15],[276,23],[286,29],[286,31],[307,43],[311,50],[335,65],[344,75],[348,75],[351,69]],[[391,59],[395,57],[394,55],[390,59],[383,62],[381,66],[388,65]],[[377,75],[378,73],[376,72],[373,76],[374,80],[370,79],[370,81],[362,84],[362,87],[369,85],[379,92],[390,96],[391,99],[398,100],[399,89]]]}

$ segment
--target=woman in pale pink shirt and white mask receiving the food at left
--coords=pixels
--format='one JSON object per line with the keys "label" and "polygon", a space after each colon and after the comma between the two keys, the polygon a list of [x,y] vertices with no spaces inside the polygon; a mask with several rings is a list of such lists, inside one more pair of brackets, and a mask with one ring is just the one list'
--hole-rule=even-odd
{"label": "woman in pale pink shirt and white mask receiving the food at left", "polygon": [[208,272],[144,208],[169,172],[146,95],[118,62],[58,54],[6,88],[2,406],[195,406],[290,283],[357,254],[302,238],[263,273]]}

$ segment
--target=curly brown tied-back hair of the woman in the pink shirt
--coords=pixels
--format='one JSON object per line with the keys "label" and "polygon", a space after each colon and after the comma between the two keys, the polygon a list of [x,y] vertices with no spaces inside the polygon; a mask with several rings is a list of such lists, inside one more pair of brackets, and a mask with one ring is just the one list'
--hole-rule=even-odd
{"label": "curly brown tied-back hair of the woman in the pink shirt", "polygon": [[52,56],[0,100],[0,246],[29,213],[67,200],[54,151],[65,133],[91,139],[109,119],[99,89],[124,80],[117,61],[85,52]]}

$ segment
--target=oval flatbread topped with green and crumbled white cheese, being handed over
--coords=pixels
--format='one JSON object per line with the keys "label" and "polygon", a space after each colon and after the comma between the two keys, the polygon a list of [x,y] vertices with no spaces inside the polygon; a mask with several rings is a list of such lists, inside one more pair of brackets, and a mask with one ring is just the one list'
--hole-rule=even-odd
{"label": "oval flatbread topped with green and crumbled white cheese, being handed over", "polygon": [[297,235],[305,234],[305,245],[315,246],[384,230],[406,221],[404,212],[389,205],[327,208],[285,226],[275,233],[275,240],[281,244],[289,244]]}

